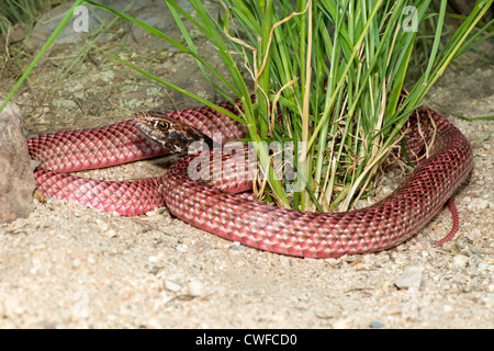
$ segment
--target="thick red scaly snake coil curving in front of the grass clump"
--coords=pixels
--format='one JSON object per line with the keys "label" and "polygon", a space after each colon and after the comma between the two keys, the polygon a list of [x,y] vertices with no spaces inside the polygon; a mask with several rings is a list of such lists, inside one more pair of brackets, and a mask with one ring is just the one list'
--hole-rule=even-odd
{"label": "thick red scaly snake coil curving in front of the grass clump", "polygon": [[[436,113],[429,118],[425,109],[419,116],[420,124],[409,124],[412,136],[422,133],[429,143],[433,121],[437,128],[429,157],[391,195],[370,207],[316,214],[256,203],[191,180],[188,165],[193,157],[165,176],[165,202],[177,217],[199,228],[283,254],[337,258],[394,247],[437,214],[472,168],[470,144],[454,126]],[[418,149],[418,140],[408,145]]]}

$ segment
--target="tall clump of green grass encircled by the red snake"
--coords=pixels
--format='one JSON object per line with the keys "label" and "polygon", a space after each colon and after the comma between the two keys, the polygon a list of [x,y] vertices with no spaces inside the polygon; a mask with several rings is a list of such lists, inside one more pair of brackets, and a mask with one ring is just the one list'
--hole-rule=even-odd
{"label": "tall clump of green grass encircled by the red snake", "polygon": [[[224,0],[216,15],[198,0],[190,1],[193,15],[172,0],[166,3],[184,44],[148,30],[192,55],[225,99],[242,100],[242,122],[257,145],[263,176],[259,188],[267,181],[270,189],[262,196],[303,211],[346,211],[370,193],[378,166],[397,145],[408,115],[453,58],[492,35],[482,36],[492,22],[476,27],[492,1],[478,1],[444,47],[446,1],[430,13],[430,1]],[[417,30],[429,18],[437,24],[430,55],[420,79],[402,97]],[[228,79],[199,55],[184,21],[217,48]],[[254,87],[243,78],[244,69]],[[277,177],[270,141],[294,145],[293,181]]]}

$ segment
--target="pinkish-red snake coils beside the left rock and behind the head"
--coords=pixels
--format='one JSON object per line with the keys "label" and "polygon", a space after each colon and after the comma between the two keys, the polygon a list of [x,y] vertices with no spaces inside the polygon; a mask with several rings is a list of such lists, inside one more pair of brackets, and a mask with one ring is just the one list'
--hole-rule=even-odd
{"label": "pinkish-red snake coils beside the left rock and behind the head", "polygon": [[[221,106],[235,112],[236,106]],[[246,128],[209,107],[169,112],[166,115],[187,121],[201,132],[222,133],[228,138],[242,138]],[[223,118],[221,118],[223,116]],[[124,216],[141,215],[164,206],[162,178],[128,182],[86,179],[67,172],[111,167],[169,154],[148,140],[124,121],[104,127],[55,132],[27,140],[30,157],[41,163],[34,178],[45,195],[78,202]]]}

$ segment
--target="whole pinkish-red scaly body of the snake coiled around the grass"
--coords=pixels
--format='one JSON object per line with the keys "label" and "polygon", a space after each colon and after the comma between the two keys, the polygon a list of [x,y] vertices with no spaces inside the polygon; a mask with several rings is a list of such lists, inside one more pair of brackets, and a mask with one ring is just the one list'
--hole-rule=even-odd
{"label": "whole pinkish-red scaly body of the snake coiled around the grass", "polygon": [[[234,113],[238,110],[229,103],[222,107]],[[210,137],[221,133],[224,139],[238,139],[247,133],[244,125],[210,107],[137,113],[134,122],[142,126],[149,116],[176,124],[183,132],[183,124],[173,123],[182,121],[193,126],[193,135],[200,131]],[[291,256],[336,258],[381,251],[412,237],[448,202],[473,163],[467,138],[447,120],[420,107],[408,121],[404,144],[408,155],[427,149],[427,158],[391,195],[351,212],[308,213],[258,203],[235,194],[251,186],[242,177],[210,183],[192,180],[188,168],[194,156],[182,158],[164,177],[139,181],[109,182],[66,174],[168,154],[143,137],[134,122],[30,139],[31,158],[41,161],[35,170],[38,189],[48,196],[122,215],[138,215],[166,204],[178,218],[246,246]],[[156,125],[155,121],[150,126]]]}

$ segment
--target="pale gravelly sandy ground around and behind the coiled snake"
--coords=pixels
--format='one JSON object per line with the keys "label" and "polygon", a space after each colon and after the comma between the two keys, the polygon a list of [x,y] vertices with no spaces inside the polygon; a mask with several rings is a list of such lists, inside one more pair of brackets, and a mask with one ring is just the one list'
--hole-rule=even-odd
{"label": "pale gravelly sandy ground around and behind the coiled snake", "polygon": [[[142,11],[149,18],[156,12]],[[131,35],[121,25],[111,30],[117,39],[102,41],[101,47],[215,99],[190,58],[151,45],[143,33]],[[98,50],[58,81],[87,41],[55,45],[16,95],[31,135],[104,125],[132,111],[190,105]],[[35,49],[40,43],[30,45]],[[474,150],[474,170],[456,194],[460,235],[441,249],[431,242],[449,231],[448,210],[395,249],[313,260],[223,240],[166,210],[120,217],[33,199],[29,218],[0,226],[0,327],[493,328],[494,125],[458,117],[493,115],[493,47],[485,45],[452,66],[439,82],[440,89],[449,88],[435,100],[441,106],[431,104]],[[2,80],[7,88],[13,84],[12,77]],[[90,176],[159,172],[159,161],[143,161]]]}

